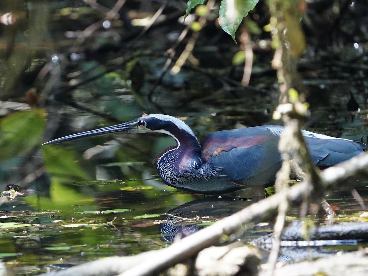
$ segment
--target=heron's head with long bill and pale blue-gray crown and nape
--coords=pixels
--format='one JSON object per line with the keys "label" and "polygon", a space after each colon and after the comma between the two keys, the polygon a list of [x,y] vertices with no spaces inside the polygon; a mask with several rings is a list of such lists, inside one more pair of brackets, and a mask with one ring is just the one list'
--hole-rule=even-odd
{"label": "heron's head with long bill and pale blue-gray crown and nape", "polygon": [[52,141],[46,142],[43,145],[59,144],[66,141],[110,134],[113,132],[127,132],[127,133],[159,132],[170,135],[175,139],[177,139],[176,137],[178,135],[186,133],[195,137],[191,128],[188,127],[188,125],[185,124],[184,121],[179,120],[178,118],[162,114],[151,114],[151,115],[143,114],[141,117],[123,124],[68,135],[65,137],[57,138]]}

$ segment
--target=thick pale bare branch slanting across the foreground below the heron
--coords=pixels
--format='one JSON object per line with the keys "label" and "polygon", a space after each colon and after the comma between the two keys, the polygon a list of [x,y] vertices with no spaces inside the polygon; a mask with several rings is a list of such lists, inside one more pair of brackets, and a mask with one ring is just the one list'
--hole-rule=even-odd
{"label": "thick pale bare branch slanting across the foreground below the heron", "polygon": [[[362,154],[335,167],[324,170],[321,175],[326,190],[343,183],[348,177],[357,173],[367,174],[368,154]],[[300,204],[305,193],[311,192],[311,185],[304,181],[294,185],[287,191],[287,200],[291,205]],[[183,262],[210,245],[216,244],[226,235],[230,236],[240,227],[250,222],[259,222],[275,216],[277,206],[284,199],[282,194],[256,202],[247,208],[226,217],[211,226],[198,231],[168,248],[144,252],[131,257],[109,257],[98,261],[75,266],[67,271],[48,273],[47,276],[67,275],[116,275],[120,276],[147,276],[156,275],[162,270]]]}

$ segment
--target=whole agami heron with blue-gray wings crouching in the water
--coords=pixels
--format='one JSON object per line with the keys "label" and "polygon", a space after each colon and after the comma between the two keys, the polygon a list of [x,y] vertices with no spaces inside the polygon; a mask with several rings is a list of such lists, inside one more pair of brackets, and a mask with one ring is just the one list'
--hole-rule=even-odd
{"label": "whole agami heron with blue-gray wings crouching in the water", "polygon": [[[191,128],[178,118],[161,114],[143,114],[127,123],[61,137],[43,145],[57,144],[113,132],[158,132],[170,135],[176,145],[155,159],[162,181],[184,191],[219,194],[275,181],[281,166],[277,149],[284,127],[263,125],[217,131],[199,143]],[[302,131],[316,166],[338,164],[364,152],[365,144]]]}

